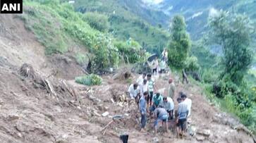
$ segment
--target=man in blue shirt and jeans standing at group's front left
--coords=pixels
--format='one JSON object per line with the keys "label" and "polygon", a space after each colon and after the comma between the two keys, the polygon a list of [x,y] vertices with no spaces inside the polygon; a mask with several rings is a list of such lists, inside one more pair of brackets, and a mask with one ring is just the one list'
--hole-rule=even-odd
{"label": "man in blue shirt and jeans standing at group's front left", "polygon": [[140,107],[140,114],[141,114],[141,131],[145,132],[145,125],[147,122],[147,101],[146,97],[148,92],[144,92],[142,97],[140,97],[139,107]]}

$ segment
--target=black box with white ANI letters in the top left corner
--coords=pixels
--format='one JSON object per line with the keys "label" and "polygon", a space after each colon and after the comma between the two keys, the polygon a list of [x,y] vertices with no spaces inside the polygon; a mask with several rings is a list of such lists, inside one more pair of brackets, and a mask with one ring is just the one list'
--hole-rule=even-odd
{"label": "black box with white ANI letters in the top left corner", "polygon": [[0,0],[0,13],[23,13],[23,0]]}

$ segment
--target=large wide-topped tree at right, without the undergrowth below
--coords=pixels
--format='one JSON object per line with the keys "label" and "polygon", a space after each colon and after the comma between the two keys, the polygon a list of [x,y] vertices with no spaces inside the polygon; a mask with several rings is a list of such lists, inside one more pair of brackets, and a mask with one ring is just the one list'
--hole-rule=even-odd
{"label": "large wide-topped tree at right, without the undergrowth below", "polygon": [[222,47],[224,72],[220,78],[228,77],[240,85],[243,76],[252,63],[250,49],[250,20],[245,15],[218,11],[209,17],[209,27],[213,41]]}

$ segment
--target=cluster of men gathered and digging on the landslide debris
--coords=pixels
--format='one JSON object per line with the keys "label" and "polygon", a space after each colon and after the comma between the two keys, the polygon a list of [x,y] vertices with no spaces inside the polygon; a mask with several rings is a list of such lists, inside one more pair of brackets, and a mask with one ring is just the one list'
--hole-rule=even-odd
{"label": "cluster of men gathered and digging on the landslide debris", "polygon": [[[174,111],[173,98],[175,94],[175,85],[173,80],[169,79],[169,87],[167,95],[164,96],[157,92],[154,78],[151,74],[143,73],[138,80],[130,85],[128,95],[135,99],[141,114],[141,131],[145,132],[147,117],[155,118],[154,132],[157,134],[158,123],[161,121],[165,124],[166,132],[169,132],[169,121],[174,120],[177,126],[177,135],[184,135],[186,130],[186,120],[190,116],[190,108],[192,101],[188,99],[186,94],[179,92],[178,109]],[[176,114],[176,115],[175,115]]]}

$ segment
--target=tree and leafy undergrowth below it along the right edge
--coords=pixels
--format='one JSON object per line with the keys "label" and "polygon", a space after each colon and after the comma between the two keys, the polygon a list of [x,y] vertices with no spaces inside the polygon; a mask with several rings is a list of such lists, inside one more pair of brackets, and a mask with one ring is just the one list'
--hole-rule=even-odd
{"label": "tree and leafy undergrowth below it along the right edge", "polygon": [[[219,44],[224,52],[221,57],[224,70],[209,92],[222,99],[221,102],[224,103],[221,106],[226,111],[235,114],[244,125],[256,131],[255,92],[244,80],[252,63],[250,32],[253,30],[250,21],[244,15],[219,11],[209,18],[209,26],[213,42]],[[209,79],[205,80],[207,81],[211,82]]]}

